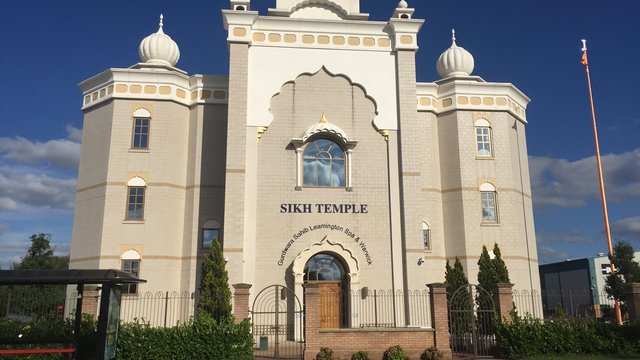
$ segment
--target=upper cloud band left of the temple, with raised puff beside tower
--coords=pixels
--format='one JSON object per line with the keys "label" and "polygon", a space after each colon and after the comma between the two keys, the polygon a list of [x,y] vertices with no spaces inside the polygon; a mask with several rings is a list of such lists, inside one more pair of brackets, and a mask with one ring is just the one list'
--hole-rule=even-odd
{"label": "upper cloud band left of the temple, with raised puff beside tower", "polygon": [[78,167],[82,130],[67,125],[67,139],[34,142],[17,136],[0,137],[0,155],[18,164],[36,165],[48,163],[62,169]]}

